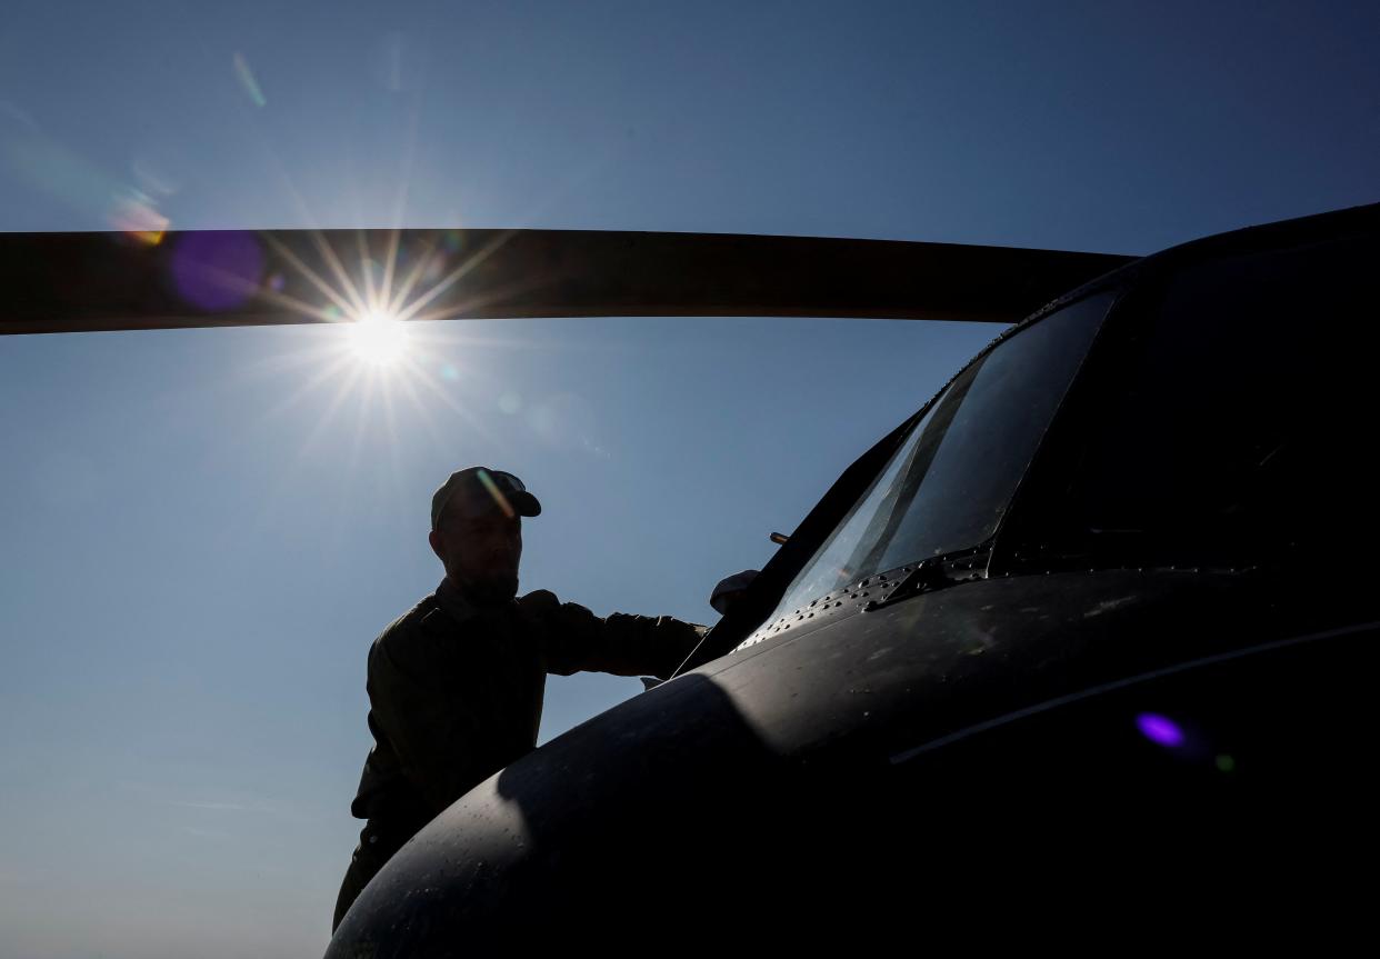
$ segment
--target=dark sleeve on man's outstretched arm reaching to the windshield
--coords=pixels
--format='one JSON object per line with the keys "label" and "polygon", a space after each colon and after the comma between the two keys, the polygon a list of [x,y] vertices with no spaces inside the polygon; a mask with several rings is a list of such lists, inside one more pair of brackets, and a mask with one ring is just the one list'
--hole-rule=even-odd
{"label": "dark sleeve on man's outstretched arm reaching to the windshield", "polygon": [[546,672],[560,676],[588,669],[667,679],[707,632],[705,626],[669,615],[598,617],[577,603],[562,603],[545,589],[527,593],[519,604],[541,637]]}

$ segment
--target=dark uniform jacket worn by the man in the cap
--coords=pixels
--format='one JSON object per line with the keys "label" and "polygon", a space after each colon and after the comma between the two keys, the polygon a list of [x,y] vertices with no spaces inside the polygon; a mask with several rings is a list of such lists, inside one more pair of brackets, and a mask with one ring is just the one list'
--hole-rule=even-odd
{"label": "dark uniform jacket worn by the man in the cap", "polygon": [[704,632],[671,617],[600,618],[546,591],[476,607],[442,581],[370,649],[374,748],[351,811],[396,849],[537,745],[546,673],[667,678]]}

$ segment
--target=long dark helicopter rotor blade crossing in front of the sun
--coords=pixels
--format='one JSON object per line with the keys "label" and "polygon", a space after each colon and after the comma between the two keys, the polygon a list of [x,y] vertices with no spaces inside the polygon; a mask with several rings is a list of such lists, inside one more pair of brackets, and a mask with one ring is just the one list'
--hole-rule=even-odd
{"label": "long dark helicopter rotor blade crossing in front of the sun", "polygon": [[502,229],[0,233],[0,333],[360,319],[1014,323],[1133,257],[897,240]]}

